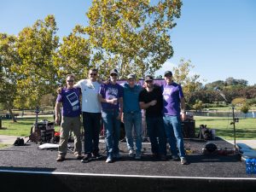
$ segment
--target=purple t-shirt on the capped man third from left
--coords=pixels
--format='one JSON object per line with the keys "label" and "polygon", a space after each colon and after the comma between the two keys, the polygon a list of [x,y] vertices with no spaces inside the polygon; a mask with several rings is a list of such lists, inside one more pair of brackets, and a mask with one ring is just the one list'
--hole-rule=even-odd
{"label": "purple t-shirt on the capped man third from left", "polygon": [[[119,99],[119,97],[124,97],[124,88],[120,84],[102,84],[99,94],[104,99]],[[116,105],[102,102],[102,110],[104,109],[119,109],[119,102]]]}

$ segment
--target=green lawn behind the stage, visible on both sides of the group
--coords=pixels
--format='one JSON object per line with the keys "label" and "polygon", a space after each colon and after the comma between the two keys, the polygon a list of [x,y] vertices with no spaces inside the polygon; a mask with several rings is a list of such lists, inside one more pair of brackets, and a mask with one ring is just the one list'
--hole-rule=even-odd
{"label": "green lawn behind the stage, visible on both sides of the group", "polygon": [[[38,121],[42,119],[53,121],[53,117],[39,117]],[[199,125],[203,124],[210,129],[215,129],[216,136],[232,140],[234,134],[233,125],[230,125],[231,121],[231,118],[195,116],[195,132],[197,134]],[[35,118],[18,119],[17,123],[13,123],[9,119],[3,119],[3,127],[6,129],[0,130],[0,135],[29,136],[34,122]],[[236,123],[236,139],[256,139],[256,119],[239,119],[239,122]]]}

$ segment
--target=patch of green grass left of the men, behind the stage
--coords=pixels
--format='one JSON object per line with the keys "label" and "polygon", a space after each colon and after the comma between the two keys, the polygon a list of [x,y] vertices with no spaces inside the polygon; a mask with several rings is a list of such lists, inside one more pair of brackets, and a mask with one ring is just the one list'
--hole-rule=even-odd
{"label": "patch of green grass left of the men, behind the stage", "polygon": [[[47,119],[53,121],[53,117],[39,117],[38,121],[42,119]],[[3,129],[0,130],[0,135],[6,136],[29,136],[31,127],[35,123],[35,118],[24,118],[18,119],[17,123],[12,122],[10,119],[3,119],[2,126]]]}

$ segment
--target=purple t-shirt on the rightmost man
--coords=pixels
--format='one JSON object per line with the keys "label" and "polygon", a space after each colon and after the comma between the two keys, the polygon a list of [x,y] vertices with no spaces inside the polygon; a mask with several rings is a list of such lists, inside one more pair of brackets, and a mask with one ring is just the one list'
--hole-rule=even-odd
{"label": "purple t-shirt on the rightmost man", "polygon": [[162,85],[164,97],[164,113],[168,115],[180,114],[180,99],[183,98],[183,90],[179,84],[164,84]]}

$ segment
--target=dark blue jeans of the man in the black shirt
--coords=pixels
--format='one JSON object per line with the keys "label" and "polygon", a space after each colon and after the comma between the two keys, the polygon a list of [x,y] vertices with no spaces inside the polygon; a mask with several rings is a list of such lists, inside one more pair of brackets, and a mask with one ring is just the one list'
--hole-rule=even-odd
{"label": "dark blue jeans of the man in the black shirt", "polygon": [[166,155],[166,132],[163,118],[146,117],[146,122],[152,153]]}

